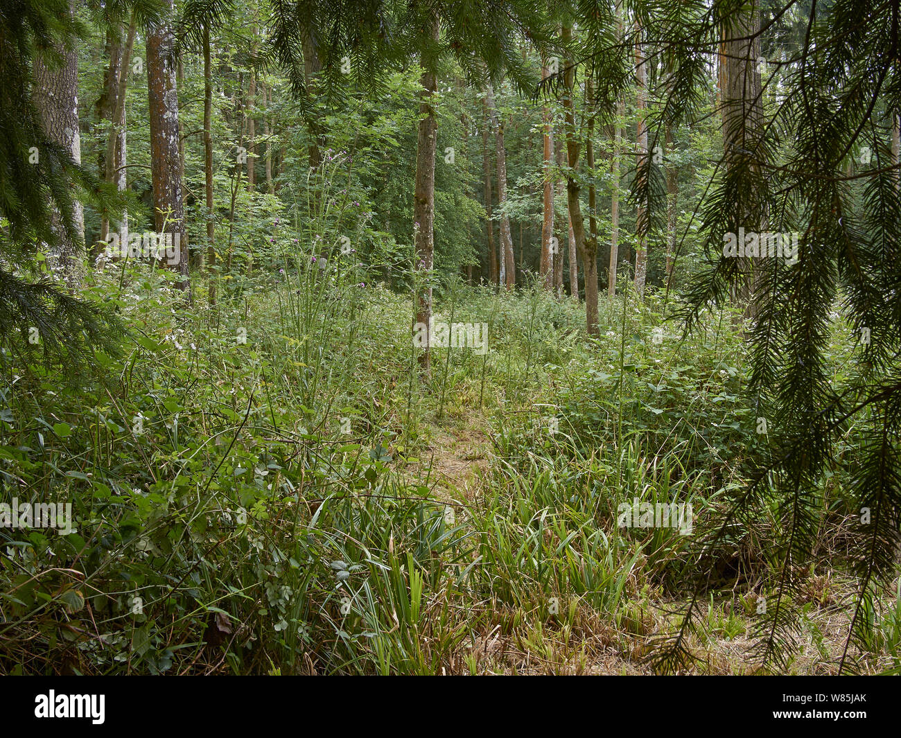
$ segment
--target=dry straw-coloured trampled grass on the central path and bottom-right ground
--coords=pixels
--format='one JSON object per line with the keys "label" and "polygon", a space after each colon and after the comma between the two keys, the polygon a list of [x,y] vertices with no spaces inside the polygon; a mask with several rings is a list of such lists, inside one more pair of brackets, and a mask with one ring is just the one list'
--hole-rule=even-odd
{"label": "dry straw-coloured trampled grass on the central path and bottom-right ground", "polygon": [[[468,506],[478,502],[487,484],[487,470],[494,456],[490,436],[490,418],[472,413],[464,417],[446,419],[445,423],[430,426],[430,458],[420,464],[409,465],[405,477],[418,483],[433,485],[435,497],[451,505]],[[791,673],[834,674],[835,664],[842,658],[849,618],[845,606],[854,595],[852,581],[845,587],[829,575],[811,579],[810,599],[820,600],[810,613],[815,632],[805,632],[797,642],[791,662]],[[816,591],[816,585],[822,591]],[[842,595],[837,594],[843,590]],[[840,600],[842,607],[839,607]],[[457,654],[460,672],[465,673],[462,659],[476,658],[480,673],[488,674],[591,674],[641,676],[653,670],[644,661],[654,633],[671,624],[669,616],[686,600],[660,598],[651,607],[642,609],[638,617],[627,619],[627,629],[617,630],[613,624],[596,615],[584,614],[581,633],[554,632],[551,629],[529,633],[501,633],[501,625],[478,633]],[[731,612],[732,601],[714,598],[712,606]],[[736,615],[742,620],[741,615]],[[705,642],[689,634],[693,651],[705,655],[703,673],[707,675],[737,675],[749,672],[752,647],[758,639],[751,637],[751,623],[744,620],[746,632],[727,636],[710,632]],[[815,633],[815,634],[814,634]],[[536,637],[537,636],[537,637]],[[626,642],[623,643],[623,637]],[[451,658],[453,664],[454,659]],[[890,667],[890,660],[884,665]]]}

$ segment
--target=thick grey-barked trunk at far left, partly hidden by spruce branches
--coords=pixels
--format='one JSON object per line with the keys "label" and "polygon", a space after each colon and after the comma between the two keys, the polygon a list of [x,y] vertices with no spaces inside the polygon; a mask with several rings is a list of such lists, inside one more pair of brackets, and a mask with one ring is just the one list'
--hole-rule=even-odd
{"label": "thick grey-barked trunk at far left, partly hidden by spruce branches", "polygon": [[[69,14],[75,14],[75,4],[69,0]],[[34,92],[32,99],[38,110],[44,133],[69,156],[81,163],[81,136],[78,132],[78,58],[74,44],[59,47],[61,64],[37,54],[34,58]],[[51,249],[49,266],[60,269],[70,287],[77,287],[82,278],[81,255],[85,241],[85,211],[77,200],[73,202],[72,229],[62,221],[63,214],[52,214],[51,228],[57,243]],[[72,232],[70,232],[70,230]]]}

